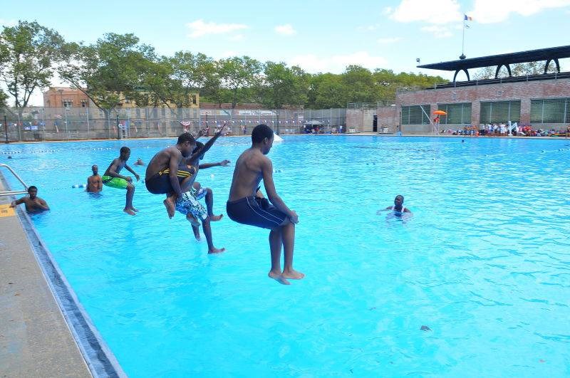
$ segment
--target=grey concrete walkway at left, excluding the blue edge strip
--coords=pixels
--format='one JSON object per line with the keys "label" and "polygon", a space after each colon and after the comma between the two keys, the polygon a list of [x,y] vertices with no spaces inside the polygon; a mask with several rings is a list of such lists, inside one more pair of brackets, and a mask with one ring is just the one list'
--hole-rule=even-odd
{"label": "grey concrete walkway at left, excluding the blue edge strip", "polygon": [[91,377],[9,203],[0,197],[0,377]]}

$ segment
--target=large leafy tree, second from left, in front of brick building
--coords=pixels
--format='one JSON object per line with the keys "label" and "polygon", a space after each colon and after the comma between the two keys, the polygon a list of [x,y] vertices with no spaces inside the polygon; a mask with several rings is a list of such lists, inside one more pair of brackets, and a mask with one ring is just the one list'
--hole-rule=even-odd
{"label": "large leafy tree, second from left, in front of brick building", "polygon": [[[153,48],[139,44],[135,35],[106,33],[90,46],[75,44],[71,61],[58,73],[103,110],[110,125],[110,113],[121,100],[144,101],[140,93],[147,91],[144,85],[149,83],[143,80],[144,73],[154,58]],[[152,95],[155,99],[148,98],[148,103],[165,103],[157,93]]]}

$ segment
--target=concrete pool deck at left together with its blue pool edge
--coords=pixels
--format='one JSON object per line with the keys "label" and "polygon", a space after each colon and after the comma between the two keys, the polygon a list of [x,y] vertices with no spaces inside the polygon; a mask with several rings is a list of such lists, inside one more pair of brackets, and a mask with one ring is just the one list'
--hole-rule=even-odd
{"label": "concrete pool deck at left together with its blue pool edge", "polygon": [[14,212],[10,201],[0,197],[0,377],[125,377],[23,205]]}

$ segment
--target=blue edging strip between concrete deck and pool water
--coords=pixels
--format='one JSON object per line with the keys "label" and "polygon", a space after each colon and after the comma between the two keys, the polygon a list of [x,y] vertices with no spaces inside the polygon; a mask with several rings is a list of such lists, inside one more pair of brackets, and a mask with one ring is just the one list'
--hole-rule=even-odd
{"label": "blue edging strip between concrete deck and pool water", "polygon": [[[0,181],[4,187],[9,183],[0,172]],[[128,377],[93,324],[88,313],[81,305],[75,291],[59,268],[46,243],[43,241],[25,210],[16,211],[19,223],[26,234],[28,245],[46,279],[48,288],[56,300],[58,310],[66,322],[73,340],[81,351],[90,374],[93,377]]]}

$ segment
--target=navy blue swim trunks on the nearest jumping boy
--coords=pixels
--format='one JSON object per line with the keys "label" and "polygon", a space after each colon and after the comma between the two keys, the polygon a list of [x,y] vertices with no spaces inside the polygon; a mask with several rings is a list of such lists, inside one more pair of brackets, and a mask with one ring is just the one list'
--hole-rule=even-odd
{"label": "navy blue swim trunks on the nearest jumping boy", "polygon": [[254,196],[227,201],[226,212],[229,219],[234,222],[270,230],[281,226],[287,219],[286,214],[269,203],[266,198]]}

